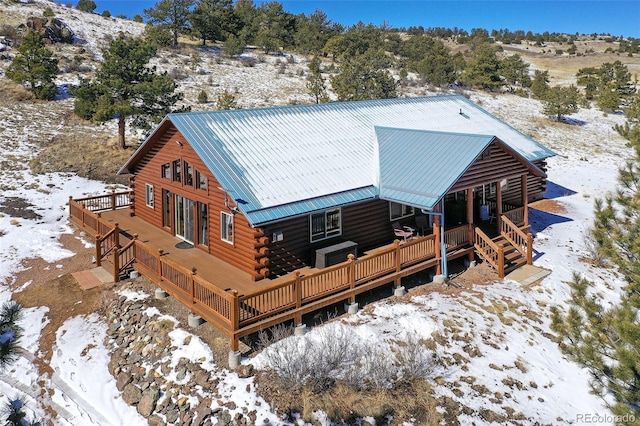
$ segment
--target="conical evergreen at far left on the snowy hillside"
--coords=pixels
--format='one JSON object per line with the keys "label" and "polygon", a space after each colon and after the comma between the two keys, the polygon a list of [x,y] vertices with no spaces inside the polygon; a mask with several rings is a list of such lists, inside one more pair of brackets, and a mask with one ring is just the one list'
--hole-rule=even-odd
{"label": "conical evergreen at far left on the snowy hillside", "polygon": [[53,99],[58,93],[53,81],[58,74],[58,60],[52,55],[40,34],[29,31],[22,37],[18,54],[7,68],[6,76],[26,84],[38,99]]}

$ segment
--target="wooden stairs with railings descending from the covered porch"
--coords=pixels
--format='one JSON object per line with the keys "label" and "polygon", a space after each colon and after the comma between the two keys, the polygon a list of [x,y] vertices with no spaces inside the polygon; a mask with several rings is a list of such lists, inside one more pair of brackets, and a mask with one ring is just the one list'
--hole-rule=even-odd
{"label": "wooden stairs with railings descending from the covered porch", "polygon": [[500,278],[523,265],[533,264],[533,236],[529,227],[518,226],[506,216],[501,217],[500,235],[495,238],[476,228],[474,248]]}

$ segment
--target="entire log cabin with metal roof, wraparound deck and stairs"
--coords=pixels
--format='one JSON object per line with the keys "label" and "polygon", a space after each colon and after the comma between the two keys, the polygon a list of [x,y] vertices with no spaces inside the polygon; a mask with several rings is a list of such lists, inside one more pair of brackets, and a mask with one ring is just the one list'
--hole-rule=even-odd
{"label": "entire log cabin with metal roof, wraparound deck and stairs", "polygon": [[447,258],[501,276],[531,263],[527,206],[553,155],[459,95],[169,114],[121,168],[131,190],[70,199],[70,216],[98,263],[137,269],[235,351],[341,298],[446,275]]}

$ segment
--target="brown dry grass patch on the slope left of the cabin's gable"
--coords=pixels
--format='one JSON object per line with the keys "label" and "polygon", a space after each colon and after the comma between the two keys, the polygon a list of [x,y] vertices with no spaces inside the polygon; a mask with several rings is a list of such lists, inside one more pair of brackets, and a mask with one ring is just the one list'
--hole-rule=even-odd
{"label": "brown dry grass patch on the slope left of the cabin's gable", "polygon": [[120,149],[117,138],[96,134],[95,128],[66,129],[31,160],[34,173],[71,172],[107,183],[128,183],[126,176],[116,173],[133,154],[132,148]]}

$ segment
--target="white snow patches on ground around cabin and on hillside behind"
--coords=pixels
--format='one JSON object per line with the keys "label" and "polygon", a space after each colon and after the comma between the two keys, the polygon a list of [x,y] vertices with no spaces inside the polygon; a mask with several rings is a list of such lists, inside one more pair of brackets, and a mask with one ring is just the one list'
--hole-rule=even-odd
{"label": "white snow patches on ground around cabin and on hillside behind", "polygon": [[[40,0],[35,6],[0,3],[5,11],[33,8],[33,15],[41,16]],[[138,34],[143,30],[130,22],[97,15],[85,14],[78,19],[78,12],[72,9],[46,4],[71,26],[78,38],[86,41],[84,47],[94,55],[99,55],[105,34],[120,30]],[[284,57],[266,56],[259,58],[254,67],[244,67],[238,61],[220,59],[215,52],[199,48],[193,52],[201,56],[201,63],[180,83],[189,103],[195,103],[202,87],[211,88],[210,99],[224,89],[236,92],[243,107],[305,101],[300,95],[305,89],[299,74],[306,68],[301,58],[288,64]],[[171,61],[159,61],[158,65],[169,72],[178,66],[191,67],[193,52],[177,52]],[[250,55],[260,56],[255,52]],[[59,79],[60,83],[74,81],[72,75]],[[615,187],[617,167],[630,154],[612,129],[624,118],[605,116],[592,109],[572,115],[572,125],[554,124],[542,117],[535,100],[477,93],[471,99],[558,153],[548,161],[547,197],[566,212],[532,210],[530,214],[536,234],[535,264],[551,270],[551,275],[533,287],[504,281],[478,285],[473,293],[457,296],[435,292],[417,295],[410,304],[383,300],[372,304],[371,309],[339,318],[336,323],[353,327],[354,333],[370,341],[436,336],[440,342],[436,352],[442,361],[433,371],[436,394],[472,408],[474,416],[483,414],[480,418],[463,415],[463,424],[489,424],[492,419],[509,414],[509,410],[513,410],[511,418],[521,418],[524,424],[575,423],[580,414],[606,414],[602,401],[588,392],[586,372],[567,361],[550,340],[549,307],[564,305],[569,295],[567,282],[576,271],[596,282],[597,290],[607,300],[614,302],[619,293],[622,283],[615,274],[580,259],[588,254],[584,235],[593,217],[593,201]],[[42,103],[0,107],[0,204],[11,199],[26,202],[26,207],[19,204],[15,213],[0,214],[0,282],[6,283],[0,286],[0,302],[10,299],[9,287],[29,285],[13,282],[24,267],[24,260],[42,257],[57,262],[73,256],[59,242],[61,234],[71,232],[66,221],[68,196],[105,190],[101,182],[70,173],[34,175],[29,170],[34,138],[47,141],[62,131],[64,114],[71,109],[71,102],[58,100],[56,108],[44,108]],[[33,214],[27,214],[29,211]],[[135,409],[118,397],[115,379],[107,370],[108,354],[103,344],[106,325],[95,314],[73,317],[64,323],[58,330],[51,360],[55,374],[39,376],[32,354],[49,321],[47,314],[46,308],[25,310],[24,356],[0,375],[0,401],[22,395],[33,411],[31,416],[38,418],[45,415],[45,405],[52,405],[58,412],[54,423],[61,425],[145,424]],[[156,314],[162,316],[160,312]],[[318,332],[319,329],[312,330],[311,337]],[[205,342],[196,336],[187,339],[188,335],[184,330],[172,332],[179,347],[172,363],[177,363],[180,356],[205,360],[203,368],[215,371],[220,379],[215,391],[222,402],[234,401],[238,411],[246,407],[256,410],[257,418],[266,419],[265,423],[282,424],[253,392],[253,379],[240,379],[216,366]],[[189,344],[180,344],[187,341]],[[261,359],[258,356],[244,362],[259,365]],[[54,390],[52,397],[43,399],[40,395],[42,383]]]}

